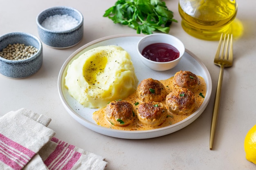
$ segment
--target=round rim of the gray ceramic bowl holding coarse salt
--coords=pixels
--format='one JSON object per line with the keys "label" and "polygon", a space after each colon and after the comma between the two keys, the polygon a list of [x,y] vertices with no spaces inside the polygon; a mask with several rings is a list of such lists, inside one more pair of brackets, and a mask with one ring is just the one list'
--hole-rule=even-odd
{"label": "round rim of the gray ceramic bowl holding coarse salt", "polygon": [[[72,11],[75,11],[76,13],[78,13],[81,17],[81,19],[79,20],[79,23],[74,27],[74,28],[71,28],[71,29],[67,29],[67,30],[64,30],[64,31],[53,31],[53,30],[49,30],[49,29],[46,29],[45,27],[42,26],[41,23],[39,23],[39,18],[41,17],[41,15],[43,15],[45,12],[47,11],[52,11],[54,9],[69,9],[69,10],[72,10]],[[66,7],[66,6],[56,6],[56,7],[51,7],[51,8],[47,8],[43,11],[41,11],[37,17],[36,17],[36,24],[40,27],[40,29],[44,30],[45,32],[48,32],[48,33],[55,33],[55,34],[61,34],[61,33],[70,33],[72,31],[75,31],[77,29],[79,29],[81,27],[81,25],[83,25],[83,14],[78,11],[77,9],[75,8],[72,8],[72,7]]]}

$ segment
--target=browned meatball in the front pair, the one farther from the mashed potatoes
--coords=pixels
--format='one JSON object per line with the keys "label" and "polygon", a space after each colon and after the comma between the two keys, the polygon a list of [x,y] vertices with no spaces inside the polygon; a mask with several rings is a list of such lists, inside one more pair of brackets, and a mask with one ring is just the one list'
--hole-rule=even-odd
{"label": "browned meatball in the front pair, the one farther from the mashed potatoes", "polygon": [[143,102],[138,105],[137,117],[143,124],[159,126],[165,121],[167,112],[167,108],[162,103]]}

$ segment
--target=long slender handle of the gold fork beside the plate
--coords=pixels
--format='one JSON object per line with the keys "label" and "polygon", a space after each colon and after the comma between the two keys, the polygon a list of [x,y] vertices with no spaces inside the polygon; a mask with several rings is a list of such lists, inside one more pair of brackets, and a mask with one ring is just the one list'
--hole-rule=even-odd
{"label": "long slender handle of the gold fork beside the plate", "polygon": [[224,66],[221,65],[218,84],[217,84],[217,88],[216,88],[215,99],[214,99],[214,104],[213,104],[213,115],[212,115],[212,119],[211,119],[210,150],[212,150],[212,148],[213,148],[213,140],[214,140],[214,135],[215,135],[217,121],[218,121],[223,73],[224,73]]}

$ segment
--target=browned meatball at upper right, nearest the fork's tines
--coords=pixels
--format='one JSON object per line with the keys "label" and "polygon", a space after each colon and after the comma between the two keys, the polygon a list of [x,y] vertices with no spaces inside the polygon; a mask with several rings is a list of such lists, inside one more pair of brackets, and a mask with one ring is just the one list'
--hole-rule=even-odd
{"label": "browned meatball at upper right, nearest the fork's tines", "polygon": [[195,92],[198,90],[200,80],[190,71],[179,71],[173,77],[173,86],[175,88],[188,88]]}

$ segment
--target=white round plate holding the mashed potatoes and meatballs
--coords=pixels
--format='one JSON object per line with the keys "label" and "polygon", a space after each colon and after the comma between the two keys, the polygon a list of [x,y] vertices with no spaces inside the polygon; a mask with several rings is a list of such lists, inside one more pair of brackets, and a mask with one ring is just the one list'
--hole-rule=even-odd
{"label": "white round plate holding the mashed potatoes and meatballs", "polygon": [[[207,70],[206,66],[201,62],[201,60],[198,57],[196,57],[193,53],[186,50],[184,56],[182,57],[182,60],[175,68],[172,68],[171,70],[164,72],[153,71],[141,63],[136,50],[137,43],[139,42],[142,36],[144,35],[125,34],[100,38],[98,40],[94,40],[88,44],[85,44],[84,46],[76,50],[70,57],[67,58],[58,75],[58,92],[61,98],[61,102],[63,103],[67,112],[80,124],[95,132],[111,137],[123,139],[149,139],[164,136],[173,133],[177,130],[180,130],[185,126],[188,126],[193,121],[195,121],[195,119],[197,119],[202,114],[204,109],[207,107],[207,104],[209,103],[211,96],[212,82],[209,71]],[[186,119],[176,124],[166,126],[164,128],[158,128],[154,130],[128,131],[114,130],[97,125],[95,121],[92,119],[92,114],[97,109],[85,108],[81,104],[79,104],[73,97],[70,96],[70,94],[67,91],[67,88],[65,88],[65,75],[67,72],[68,65],[77,57],[79,57],[79,55],[97,46],[106,45],[121,46],[123,49],[128,51],[132,58],[132,62],[135,67],[135,73],[137,75],[137,78],[139,79],[139,82],[146,78],[153,78],[158,80],[168,79],[169,77],[174,76],[174,74],[180,70],[191,71],[196,75],[200,75],[204,78],[207,84],[207,93],[205,95],[204,102],[198,108],[198,110],[196,110],[192,115],[190,115]]]}

